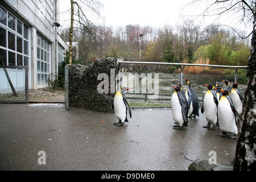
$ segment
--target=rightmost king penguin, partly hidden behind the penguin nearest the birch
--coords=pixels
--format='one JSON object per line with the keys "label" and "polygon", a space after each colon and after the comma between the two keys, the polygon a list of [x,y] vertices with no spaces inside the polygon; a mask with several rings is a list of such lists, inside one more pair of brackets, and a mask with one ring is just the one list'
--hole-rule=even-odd
{"label": "rightmost king penguin, partly hidden behind the penguin nearest the birch", "polygon": [[232,99],[233,105],[237,110],[237,113],[241,116],[243,111],[243,101],[245,98],[241,95],[239,90],[237,89],[238,82],[233,84],[233,88],[230,92],[230,97]]}

